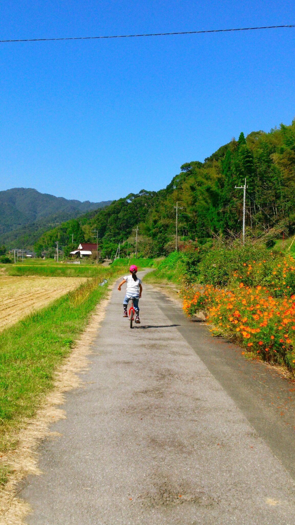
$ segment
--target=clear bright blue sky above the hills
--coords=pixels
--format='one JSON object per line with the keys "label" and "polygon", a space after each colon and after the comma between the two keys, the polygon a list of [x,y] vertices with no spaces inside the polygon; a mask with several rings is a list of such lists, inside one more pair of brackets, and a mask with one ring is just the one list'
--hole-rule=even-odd
{"label": "clear bright blue sky above the hills", "polygon": [[[24,1],[0,39],[295,23],[293,0]],[[101,201],[295,116],[295,28],[0,44],[0,190]]]}

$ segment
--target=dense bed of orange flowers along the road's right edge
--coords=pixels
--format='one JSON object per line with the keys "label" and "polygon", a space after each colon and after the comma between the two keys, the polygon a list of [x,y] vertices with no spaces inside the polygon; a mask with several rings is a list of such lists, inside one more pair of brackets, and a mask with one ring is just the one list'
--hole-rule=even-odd
{"label": "dense bed of orange flowers along the road's right edge", "polygon": [[285,293],[277,298],[266,287],[244,286],[243,282],[231,290],[206,285],[186,290],[183,309],[188,316],[203,311],[214,326],[213,333],[233,337],[255,355],[284,363],[293,373],[295,295]]}

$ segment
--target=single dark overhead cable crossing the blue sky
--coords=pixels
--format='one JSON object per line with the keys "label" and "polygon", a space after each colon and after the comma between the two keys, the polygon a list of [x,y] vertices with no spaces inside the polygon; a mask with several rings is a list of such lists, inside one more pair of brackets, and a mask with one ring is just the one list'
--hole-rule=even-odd
{"label": "single dark overhead cable crossing the blue sky", "polygon": [[97,40],[99,38],[137,38],[142,36],[200,35],[203,33],[226,33],[228,31],[253,31],[255,29],[278,29],[285,27],[295,27],[295,24],[289,24],[284,26],[238,27],[233,29],[206,29],[204,31],[177,31],[175,33],[147,33],[142,35],[74,36],[62,38],[16,38],[12,40],[0,40],[0,43],[4,44],[9,42],[48,42],[55,40]]}

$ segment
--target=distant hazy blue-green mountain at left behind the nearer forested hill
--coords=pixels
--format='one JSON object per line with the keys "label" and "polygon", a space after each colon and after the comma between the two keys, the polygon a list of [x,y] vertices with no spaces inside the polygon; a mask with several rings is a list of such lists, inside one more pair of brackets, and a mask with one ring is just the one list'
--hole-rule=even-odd
{"label": "distant hazy blue-green mountain at left behind the nearer forested hill", "polygon": [[40,193],[33,188],[12,188],[0,192],[0,244],[29,248],[50,228],[112,201],[76,201]]}

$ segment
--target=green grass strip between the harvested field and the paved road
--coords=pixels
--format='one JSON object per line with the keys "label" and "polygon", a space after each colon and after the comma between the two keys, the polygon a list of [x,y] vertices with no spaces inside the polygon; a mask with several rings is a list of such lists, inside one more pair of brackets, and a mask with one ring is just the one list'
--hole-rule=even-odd
{"label": "green grass strip between the harvested field and the paved road", "polygon": [[13,436],[24,418],[34,416],[54,384],[56,367],[85,329],[96,304],[106,296],[108,287],[97,286],[98,282],[87,281],[78,291],[69,292],[0,334],[2,451],[13,446]]}

